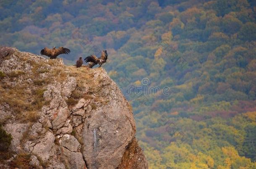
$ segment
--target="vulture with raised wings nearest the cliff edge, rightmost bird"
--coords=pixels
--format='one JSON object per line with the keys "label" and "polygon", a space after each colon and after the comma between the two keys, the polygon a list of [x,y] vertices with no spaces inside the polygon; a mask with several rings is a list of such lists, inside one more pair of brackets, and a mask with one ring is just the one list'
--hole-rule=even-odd
{"label": "vulture with raised wings nearest the cliff edge, rightmost bird", "polygon": [[99,67],[102,66],[103,63],[107,62],[107,50],[102,50],[101,56],[97,58],[96,55],[90,55],[84,59],[84,61],[90,62],[89,68],[92,68],[94,65],[97,65],[99,63]]}

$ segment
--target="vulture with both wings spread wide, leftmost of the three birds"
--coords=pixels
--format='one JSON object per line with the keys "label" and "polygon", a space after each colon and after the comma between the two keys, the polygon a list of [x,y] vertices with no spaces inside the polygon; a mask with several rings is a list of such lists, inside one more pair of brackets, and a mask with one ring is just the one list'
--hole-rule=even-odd
{"label": "vulture with both wings spread wide, leftmost of the three birds", "polygon": [[70,53],[70,50],[64,47],[56,48],[54,46],[52,49],[45,47],[44,49],[41,50],[41,55],[46,55],[50,57],[50,59],[55,59],[57,58],[57,55],[68,54],[68,53]]}

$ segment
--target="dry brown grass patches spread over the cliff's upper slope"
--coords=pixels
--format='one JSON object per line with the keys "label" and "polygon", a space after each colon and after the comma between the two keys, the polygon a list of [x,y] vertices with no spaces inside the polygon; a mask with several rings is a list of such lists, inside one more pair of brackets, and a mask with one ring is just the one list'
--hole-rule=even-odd
{"label": "dry brown grass patches spread over the cliff's upper slope", "polygon": [[[75,105],[78,100],[84,98],[86,100],[94,100],[98,103],[107,104],[107,101],[102,101],[102,98],[93,97],[92,94],[95,88],[98,88],[102,79],[94,80],[94,72],[89,68],[83,67],[77,69],[74,66],[62,66],[59,61],[49,60],[47,62],[35,62],[33,60],[26,60],[32,66],[32,74],[29,78],[33,80],[32,86],[27,84],[19,87],[11,87],[10,83],[0,82],[0,103],[7,103],[10,109],[16,112],[16,119],[26,122],[35,122],[39,119],[37,112],[42,106],[47,105],[50,101],[44,101],[43,94],[46,89],[45,86],[51,81],[63,83],[68,76],[76,78],[77,86],[83,88],[84,85],[90,86],[88,93],[81,93],[77,90],[73,91],[71,98],[68,98],[66,103],[68,106]],[[46,64],[55,66],[48,71]],[[48,78],[39,78],[40,73],[46,73]],[[3,73],[2,73],[3,74]],[[11,78],[25,75],[24,71],[12,71],[7,74]],[[0,74],[1,76],[1,74]],[[91,85],[93,84],[93,85]],[[92,108],[97,108],[96,104]]]}

